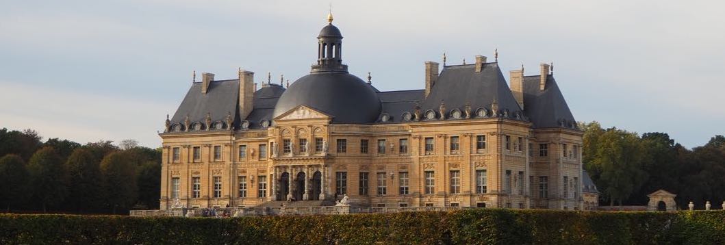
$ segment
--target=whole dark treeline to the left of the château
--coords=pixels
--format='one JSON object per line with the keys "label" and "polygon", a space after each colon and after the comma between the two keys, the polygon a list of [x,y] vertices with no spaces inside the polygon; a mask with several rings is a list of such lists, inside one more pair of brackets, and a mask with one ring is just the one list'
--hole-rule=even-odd
{"label": "whole dark treeline to the left of the ch\u00e2teau", "polygon": [[128,213],[157,209],[161,150],[133,140],[85,145],[0,129],[0,210]]}

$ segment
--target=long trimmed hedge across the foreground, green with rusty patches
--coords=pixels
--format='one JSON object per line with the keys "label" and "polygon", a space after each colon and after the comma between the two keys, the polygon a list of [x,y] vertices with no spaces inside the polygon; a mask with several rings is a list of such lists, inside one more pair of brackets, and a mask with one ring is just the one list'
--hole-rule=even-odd
{"label": "long trimmed hedge across the foreground, green with rusty patches", "polygon": [[0,244],[725,244],[725,212],[468,209],[183,218],[0,215]]}

